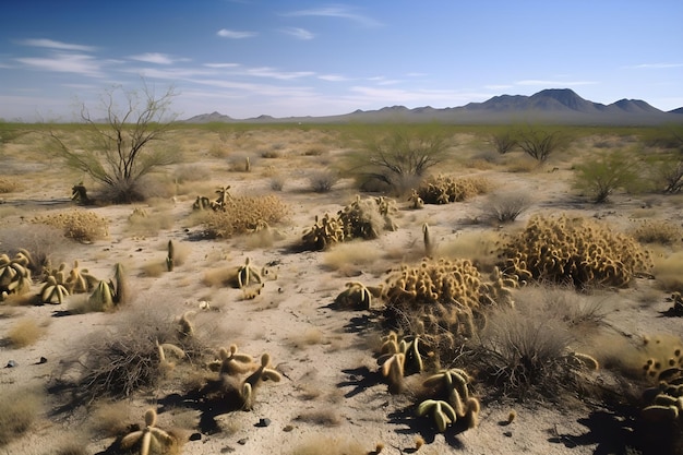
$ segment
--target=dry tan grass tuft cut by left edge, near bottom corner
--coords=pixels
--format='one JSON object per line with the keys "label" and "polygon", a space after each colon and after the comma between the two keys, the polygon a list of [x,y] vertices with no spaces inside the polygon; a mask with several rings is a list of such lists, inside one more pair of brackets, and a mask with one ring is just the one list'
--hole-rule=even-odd
{"label": "dry tan grass tuft cut by left edge, near bottom corner", "polygon": [[3,387],[0,396],[0,447],[19,439],[37,419],[43,396],[34,390]]}

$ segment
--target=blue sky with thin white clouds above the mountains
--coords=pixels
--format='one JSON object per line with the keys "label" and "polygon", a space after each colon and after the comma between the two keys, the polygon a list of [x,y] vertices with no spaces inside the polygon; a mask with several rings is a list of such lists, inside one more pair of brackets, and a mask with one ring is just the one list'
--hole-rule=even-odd
{"label": "blue sky with thin white clouds above the mountains", "polygon": [[572,88],[683,106],[680,0],[24,0],[0,14],[0,118],[69,121],[115,85],[180,118],[463,106]]}

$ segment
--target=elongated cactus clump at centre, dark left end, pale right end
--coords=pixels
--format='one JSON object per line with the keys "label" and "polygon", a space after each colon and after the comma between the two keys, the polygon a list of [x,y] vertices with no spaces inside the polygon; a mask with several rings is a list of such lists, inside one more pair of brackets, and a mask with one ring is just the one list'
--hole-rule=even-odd
{"label": "elongated cactus clump at centre, dark left end, pale right end", "polygon": [[392,215],[397,212],[396,201],[384,197],[356,199],[333,217],[315,216],[315,224],[303,232],[302,248],[321,251],[332,244],[351,239],[375,239],[383,230],[396,230]]}

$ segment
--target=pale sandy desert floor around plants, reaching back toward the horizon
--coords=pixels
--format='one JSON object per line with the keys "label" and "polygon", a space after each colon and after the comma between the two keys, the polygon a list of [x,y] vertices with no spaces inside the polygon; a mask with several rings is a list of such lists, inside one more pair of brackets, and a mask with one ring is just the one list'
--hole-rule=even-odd
{"label": "pale sandy desert floor around plants, reaching back toward the horizon", "polygon": [[[595,141],[619,142],[623,137],[584,137],[568,152],[534,166],[519,151],[496,156],[482,141],[463,133],[456,137],[452,163],[439,171],[454,177],[476,175],[488,179],[492,191],[532,195],[529,208],[516,221],[504,226],[489,223],[489,194],[447,205],[428,204],[421,209],[410,209],[406,199],[397,199],[396,231],[328,251],[295,252],[291,247],[315,215],[336,213],[358,193],[350,179],[340,179],[329,192],[310,190],[310,176],[333,168],[345,153],[334,131],[254,128],[226,137],[206,129],[184,128],[173,134],[183,163],[152,176],[159,187],[156,196],[132,205],[79,207],[108,219],[108,236],[89,243],[59,238],[49,247],[53,264],[71,266],[79,261],[81,267],[104,279],[112,276],[113,264],[121,263],[128,273],[131,301],[116,312],[84,314],[70,313],[77,296],[68,297],[62,304],[0,304],[0,363],[15,363],[0,369],[0,394],[5,399],[46,388],[96,339],[92,336],[135,330],[136,324],[172,323],[188,311],[197,336],[207,345],[217,349],[236,344],[240,352],[256,359],[267,352],[281,381],[263,384],[252,410],[214,416],[212,431],[202,431],[200,409],[173,399],[182,394],[188,380],[183,372],[189,369],[182,361],[158,387],[116,403],[101,399],[57,411],[63,397],[43,393],[38,418],[24,434],[0,446],[0,453],[44,455],[76,446],[81,453],[111,453],[116,436],[112,430],[103,429],[106,410],[118,416],[119,426],[125,429],[143,424],[143,414],[151,407],[158,411],[158,427],[180,429],[185,439],[181,453],[190,455],[355,454],[378,452],[378,445],[386,454],[638,453],[628,447],[637,410],[620,414],[600,399],[578,396],[520,403],[492,397],[478,380],[471,384],[472,394],[481,402],[478,427],[439,433],[429,419],[414,416],[410,395],[390,394],[379,373],[378,339],[386,335],[378,323],[383,303],[374,300],[369,311],[342,311],[331,306],[349,280],[376,285],[386,278],[386,271],[402,263],[419,263],[424,252],[424,223],[432,228],[436,256],[476,251],[468,242],[478,236],[522,229],[536,214],[584,216],[620,231],[628,231],[643,219],[680,226],[680,195],[618,192],[609,203],[596,205],[572,189],[573,163],[595,151]],[[0,253],[22,247],[8,244],[12,241],[7,232],[19,228],[27,235],[35,226],[34,217],[75,208],[70,189],[83,176],[68,170],[56,157],[43,156],[38,144],[27,136],[3,152],[1,172],[16,179],[19,187],[0,194]],[[307,153],[313,149],[316,152]],[[251,158],[249,172],[240,169],[245,156]],[[283,184],[280,191],[273,190],[275,180]],[[87,179],[85,184],[94,187]],[[277,232],[268,238],[244,235],[197,240],[202,226],[194,218],[193,202],[200,194],[214,199],[216,188],[226,184],[236,196],[275,194],[289,205],[287,219],[273,226]],[[131,224],[134,209],[145,211],[148,225]],[[164,270],[169,240],[177,246],[172,272]],[[680,249],[680,244],[657,246],[652,254],[663,258]],[[254,299],[207,278],[243,264],[247,258],[257,266],[268,265],[269,271]],[[35,283],[32,292],[40,286]],[[634,351],[646,336],[680,336],[681,319],[661,314],[671,307],[670,294],[656,274],[655,279],[638,277],[625,289],[594,290],[584,298],[599,303],[601,325],[597,335],[578,337],[573,347],[601,360],[609,349],[598,340],[612,339],[610,336],[620,337],[623,346]],[[26,320],[35,321],[43,332],[34,343],[17,348],[8,334]],[[40,362],[41,357],[47,361]],[[619,378],[607,369],[588,375],[591,383],[607,385]],[[634,383],[633,390],[640,386]],[[516,418],[507,423],[513,409]],[[424,440],[419,451],[417,438]]]}

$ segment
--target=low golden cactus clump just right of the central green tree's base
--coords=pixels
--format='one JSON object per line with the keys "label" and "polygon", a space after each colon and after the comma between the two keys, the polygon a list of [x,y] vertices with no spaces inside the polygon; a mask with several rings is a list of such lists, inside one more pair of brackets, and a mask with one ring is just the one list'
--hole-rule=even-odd
{"label": "low golden cactus clump just right of the central green tree's base", "polygon": [[488,181],[476,177],[463,177],[454,179],[439,175],[426,179],[412,195],[414,204],[417,197],[424,204],[450,204],[463,202],[478,194],[484,193],[489,188]]}

